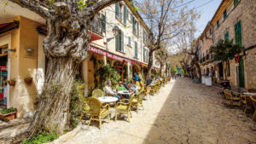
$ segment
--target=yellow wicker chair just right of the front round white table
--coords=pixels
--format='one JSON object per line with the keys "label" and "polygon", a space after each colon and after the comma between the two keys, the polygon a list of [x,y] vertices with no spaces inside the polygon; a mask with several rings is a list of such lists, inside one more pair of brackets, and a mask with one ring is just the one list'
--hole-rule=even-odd
{"label": "yellow wicker chair just right of the front round white table", "polygon": [[[134,94],[130,96],[130,99],[122,99],[117,106],[115,107],[115,117],[114,120],[117,120],[117,115],[127,114],[128,122],[130,123],[130,115],[131,115],[131,103],[134,99]],[[128,102],[127,102],[128,101]],[[132,115],[131,115],[132,118]]]}

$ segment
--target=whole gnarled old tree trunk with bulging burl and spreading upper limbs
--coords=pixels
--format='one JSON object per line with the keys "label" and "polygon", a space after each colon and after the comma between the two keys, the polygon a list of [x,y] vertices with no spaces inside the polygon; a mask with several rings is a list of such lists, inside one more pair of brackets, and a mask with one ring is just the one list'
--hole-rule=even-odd
{"label": "whole gnarled old tree trunk with bulging burl and spreading upper limbs", "polygon": [[42,130],[55,131],[60,135],[70,120],[73,80],[79,65],[87,57],[90,20],[101,9],[120,0],[89,0],[86,6],[79,5],[79,0],[58,0],[49,9],[36,0],[10,1],[47,20],[48,35],[43,46],[49,60],[48,69],[42,95],[38,98],[38,109],[30,126],[30,135]]}

